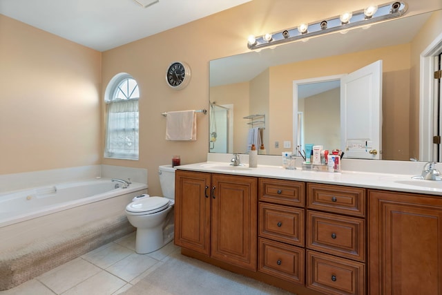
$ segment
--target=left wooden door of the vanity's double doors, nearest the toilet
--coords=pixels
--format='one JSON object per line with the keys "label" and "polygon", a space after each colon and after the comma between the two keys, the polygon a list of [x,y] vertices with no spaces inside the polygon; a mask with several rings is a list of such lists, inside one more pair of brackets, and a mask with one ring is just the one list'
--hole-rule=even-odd
{"label": "left wooden door of the vanity's double doors, nearest the toilet", "polygon": [[175,171],[175,245],[210,255],[210,173]]}

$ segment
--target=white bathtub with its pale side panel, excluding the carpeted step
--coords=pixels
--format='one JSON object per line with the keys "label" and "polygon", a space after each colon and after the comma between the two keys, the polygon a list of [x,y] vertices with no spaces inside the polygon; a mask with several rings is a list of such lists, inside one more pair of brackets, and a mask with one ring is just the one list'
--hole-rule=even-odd
{"label": "white bathtub with its pale side panel, excluding the carpeted step", "polygon": [[1,193],[0,251],[122,214],[126,204],[147,189],[142,183],[126,189],[115,189],[115,184],[101,178]]}

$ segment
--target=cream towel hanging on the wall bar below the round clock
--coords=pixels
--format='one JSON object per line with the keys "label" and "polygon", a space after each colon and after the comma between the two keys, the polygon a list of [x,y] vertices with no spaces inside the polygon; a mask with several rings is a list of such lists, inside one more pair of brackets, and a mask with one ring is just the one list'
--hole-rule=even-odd
{"label": "cream towel hanging on the wall bar below the round clock", "polygon": [[166,140],[196,140],[195,110],[166,114]]}

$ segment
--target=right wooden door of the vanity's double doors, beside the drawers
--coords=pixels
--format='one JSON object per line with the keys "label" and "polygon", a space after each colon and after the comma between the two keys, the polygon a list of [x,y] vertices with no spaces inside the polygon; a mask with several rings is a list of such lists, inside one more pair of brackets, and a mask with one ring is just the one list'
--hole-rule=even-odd
{"label": "right wooden door of the vanity's double doors, beside the drawers", "polygon": [[212,175],[211,256],[256,270],[257,179]]}

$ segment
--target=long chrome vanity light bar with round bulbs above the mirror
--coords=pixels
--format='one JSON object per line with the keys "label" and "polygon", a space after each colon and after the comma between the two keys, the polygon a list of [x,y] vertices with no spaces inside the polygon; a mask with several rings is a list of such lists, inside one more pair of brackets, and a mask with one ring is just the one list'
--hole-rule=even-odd
{"label": "long chrome vanity light bar with round bulbs above the mirror", "polygon": [[287,42],[298,41],[329,32],[349,30],[361,26],[371,25],[388,19],[401,17],[407,12],[408,6],[404,2],[390,2],[379,6],[369,6],[365,9],[345,12],[338,17],[323,19],[314,23],[302,23],[298,27],[267,33],[262,36],[251,36],[247,47],[251,50],[267,46],[276,46]]}

